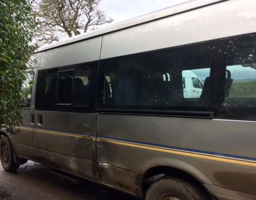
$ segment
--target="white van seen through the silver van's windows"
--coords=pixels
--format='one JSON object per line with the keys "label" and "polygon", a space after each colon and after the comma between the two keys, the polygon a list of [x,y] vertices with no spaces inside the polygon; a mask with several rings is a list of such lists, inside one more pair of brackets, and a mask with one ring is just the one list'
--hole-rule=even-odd
{"label": "white van seen through the silver van's windows", "polygon": [[184,98],[200,98],[204,84],[190,70],[182,71]]}

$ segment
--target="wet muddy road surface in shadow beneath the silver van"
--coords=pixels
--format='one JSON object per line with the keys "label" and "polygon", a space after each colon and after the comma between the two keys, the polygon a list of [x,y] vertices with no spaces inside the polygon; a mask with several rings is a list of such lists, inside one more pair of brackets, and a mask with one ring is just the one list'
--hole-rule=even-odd
{"label": "wet muddy road surface in shadow beneath the silver van", "polygon": [[50,169],[28,162],[16,174],[0,165],[0,200],[136,200],[132,196],[85,181],[74,184],[50,173]]}

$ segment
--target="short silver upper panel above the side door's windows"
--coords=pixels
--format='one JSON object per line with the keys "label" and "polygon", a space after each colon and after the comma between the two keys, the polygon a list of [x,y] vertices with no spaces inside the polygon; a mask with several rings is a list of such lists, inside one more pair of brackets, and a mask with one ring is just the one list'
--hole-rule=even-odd
{"label": "short silver upper panel above the side door's windows", "polygon": [[102,37],[73,43],[42,52],[40,69],[97,61],[100,58]]}

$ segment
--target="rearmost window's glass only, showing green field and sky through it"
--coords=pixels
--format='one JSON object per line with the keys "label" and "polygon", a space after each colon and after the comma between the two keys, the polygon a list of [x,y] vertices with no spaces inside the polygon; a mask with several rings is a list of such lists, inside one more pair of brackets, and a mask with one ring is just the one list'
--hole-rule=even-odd
{"label": "rearmost window's glass only, showing green field and sky through it", "polygon": [[[247,37],[248,38],[248,37]],[[227,69],[225,106],[256,106],[256,38],[233,39]],[[230,77],[228,77],[230,76]]]}

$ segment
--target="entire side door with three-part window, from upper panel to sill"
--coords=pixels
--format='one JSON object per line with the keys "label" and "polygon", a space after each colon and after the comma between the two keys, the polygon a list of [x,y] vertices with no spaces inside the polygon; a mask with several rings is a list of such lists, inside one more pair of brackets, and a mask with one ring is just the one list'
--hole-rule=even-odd
{"label": "entire side door with three-part window, from upper panel to sill", "polygon": [[[41,64],[38,70],[55,70],[56,72],[54,73],[57,76],[58,73],[64,72],[65,69],[73,72],[79,66],[82,66],[82,69],[86,69],[90,65],[88,64],[90,61],[97,61],[99,59],[101,41],[102,37],[97,37],[42,52]],[[82,64],[75,65],[77,63]],[[59,68],[56,69],[56,67]],[[91,68],[91,75],[93,74],[91,82],[95,87],[97,67],[98,62],[94,62]],[[54,92],[54,95],[56,95],[56,89]],[[74,96],[72,96],[72,99],[74,100]],[[95,107],[94,99],[96,99],[96,95],[91,94],[88,95],[86,100],[94,102]],[[82,99],[80,100],[83,101]],[[71,103],[67,105],[70,109],[58,110],[57,104],[56,100],[55,109],[52,110],[36,110],[35,128],[33,131],[35,160],[55,169],[99,182],[95,149],[96,107],[93,108],[94,111],[90,109],[93,107],[91,105],[88,106],[90,111],[74,111]],[[65,104],[60,104],[58,108],[61,106],[65,107]],[[81,107],[82,109],[84,108]],[[39,119],[40,116],[42,120]]]}

